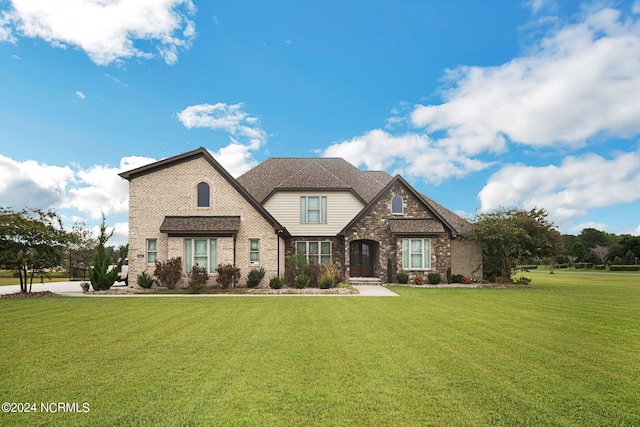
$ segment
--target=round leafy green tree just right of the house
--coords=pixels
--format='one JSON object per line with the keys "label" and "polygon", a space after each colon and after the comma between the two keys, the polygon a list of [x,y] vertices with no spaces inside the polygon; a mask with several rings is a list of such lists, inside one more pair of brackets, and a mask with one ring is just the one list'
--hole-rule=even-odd
{"label": "round leafy green tree just right of the house", "polygon": [[511,277],[521,258],[555,256],[563,240],[544,209],[498,209],[476,216],[471,239],[482,244],[485,274]]}

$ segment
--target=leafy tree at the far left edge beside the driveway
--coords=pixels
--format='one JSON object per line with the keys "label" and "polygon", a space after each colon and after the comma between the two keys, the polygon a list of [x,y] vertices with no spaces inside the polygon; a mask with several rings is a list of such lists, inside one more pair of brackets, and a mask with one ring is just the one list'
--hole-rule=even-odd
{"label": "leafy tree at the far left edge beside the driveway", "polygon": [[18,272],[20,292],[31,292],[34,275],[62,264],[68,241],[56,212],[0,206],[0,265]]}

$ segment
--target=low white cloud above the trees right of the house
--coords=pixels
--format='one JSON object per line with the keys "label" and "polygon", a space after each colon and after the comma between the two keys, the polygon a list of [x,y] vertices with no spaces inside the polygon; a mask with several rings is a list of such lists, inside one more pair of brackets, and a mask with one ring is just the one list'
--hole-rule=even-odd
{"label": "low white cloud above the trees right of the house", "polygon": [[567,157],[561,165],[509,165],[493,174],[478,195],[480,209],[544,207],[566,227],[587,209],[640,200],[640,151],[612,159]]}

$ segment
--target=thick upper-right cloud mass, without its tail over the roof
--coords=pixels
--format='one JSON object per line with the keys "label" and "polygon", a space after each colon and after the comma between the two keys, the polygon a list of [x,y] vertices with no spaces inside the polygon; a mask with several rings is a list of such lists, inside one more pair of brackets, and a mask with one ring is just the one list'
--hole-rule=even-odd
{"label": "thick upper-right cloud mass, without its tail over the roof", "polygon": [[598,10],[499,67],[449,72],[445,103],[411,116],[469,155],[502,150],[506,136],[531,146],[582,145],[601,133],[640,131],[640,24]]}

